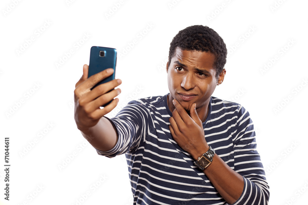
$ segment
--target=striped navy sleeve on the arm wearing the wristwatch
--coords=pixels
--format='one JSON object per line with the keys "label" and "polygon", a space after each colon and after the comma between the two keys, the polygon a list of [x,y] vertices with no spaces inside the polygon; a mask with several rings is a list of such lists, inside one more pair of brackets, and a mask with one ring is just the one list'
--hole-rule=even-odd
{"label": "striped navy sleeve on the arm wearing the wristwatch", "polygon": [[260,155],[256,150],[256,134],[249,113],[240,106],[233,134],[234,170],[244,177],[244,189],[234,205],[268,204],[269,185]]}

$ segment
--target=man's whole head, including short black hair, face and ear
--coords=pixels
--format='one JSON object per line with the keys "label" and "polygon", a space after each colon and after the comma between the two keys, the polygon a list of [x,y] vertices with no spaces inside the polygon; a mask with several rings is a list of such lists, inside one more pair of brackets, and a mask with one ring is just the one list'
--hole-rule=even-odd
{"label": "man's whole head, including short black hair, face and ear", "polygon": [[189,112],[193,103],[205,120],[210,98],[225,77],[226,46],[221,37],[205,26],[190,26],[172,40],[169,51],[168,107],[176,99]]}

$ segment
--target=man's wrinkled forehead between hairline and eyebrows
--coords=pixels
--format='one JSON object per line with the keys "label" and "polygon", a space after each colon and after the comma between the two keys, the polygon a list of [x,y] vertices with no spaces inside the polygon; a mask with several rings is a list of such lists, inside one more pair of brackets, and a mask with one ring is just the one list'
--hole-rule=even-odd
{"label": "man's wrinkled forehead between hairline and eyebrows", "polygon": [[215,55],[210,52],[188,51],[177,47],[171,63],[175,61],[180,61],[187,66],[193,65],[194,67],[214,69]]}

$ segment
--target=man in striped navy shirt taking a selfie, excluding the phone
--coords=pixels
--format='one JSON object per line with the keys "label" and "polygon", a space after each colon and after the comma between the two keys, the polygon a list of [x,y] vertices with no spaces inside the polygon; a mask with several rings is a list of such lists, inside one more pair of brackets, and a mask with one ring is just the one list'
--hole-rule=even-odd
{"label": "man in striped navy shirt taking a selfie, excluding the phone", "polygon": [[269,186],[256,151],[249,113],[211,97],[224,81],[227,49],[207,26],[181,30],[170,44],[164,96],[131,101],[114,118],[103,117],[120,93],[119,79],[87,79],[75,89],[78,129],[100,155],[125,153],[134,204],[268,204]]}

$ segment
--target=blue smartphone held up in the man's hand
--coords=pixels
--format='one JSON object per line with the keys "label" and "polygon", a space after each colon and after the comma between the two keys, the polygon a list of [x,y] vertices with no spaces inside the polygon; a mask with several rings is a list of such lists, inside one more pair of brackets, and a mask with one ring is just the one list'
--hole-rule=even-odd
{"label": "blue smartphone held up in the man's hand", "polygon": [[[113,68],[114,72],[111,76],[98,82],[95,86],[93,86],[93,88],[91,88],[91,90],[100,84],[103,84],[103,83],[106,83],[108,81],[115,79],[115,66],[116,66],[116,49],[100,47],[100,46],[92,46],[90,50],[88,77],[96,73],[99,73],[107,68]],[[110,92],[111,90],[109,90],[108,92]],[[102,107],[107,106],[108,104],[111,103],[111,101],[102,105]]]}

